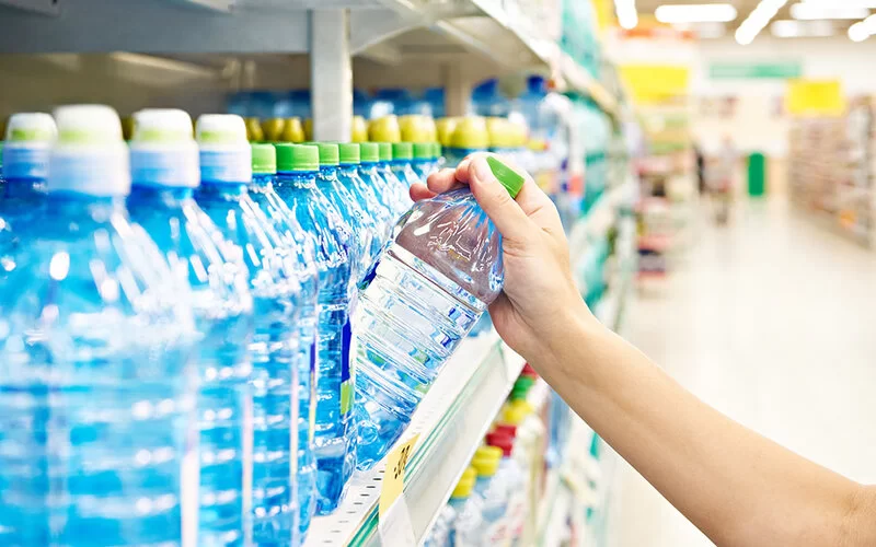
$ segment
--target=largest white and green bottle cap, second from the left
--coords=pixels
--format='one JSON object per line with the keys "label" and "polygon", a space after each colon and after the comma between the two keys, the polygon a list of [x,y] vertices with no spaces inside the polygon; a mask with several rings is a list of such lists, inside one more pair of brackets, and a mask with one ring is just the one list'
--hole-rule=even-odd
{"label": "largest white and green bottle cap, second from the left", "polygon": [[49,156],[49,191],[97,197],[124,197],[130,193],[128,147],[113,108],[61,106],[55,110],[55,123],[58,140]]}

